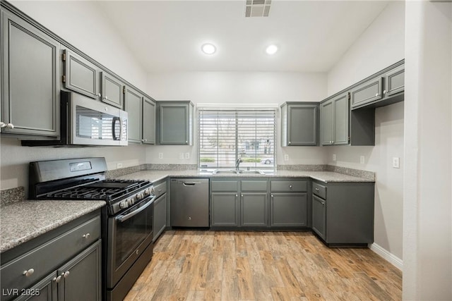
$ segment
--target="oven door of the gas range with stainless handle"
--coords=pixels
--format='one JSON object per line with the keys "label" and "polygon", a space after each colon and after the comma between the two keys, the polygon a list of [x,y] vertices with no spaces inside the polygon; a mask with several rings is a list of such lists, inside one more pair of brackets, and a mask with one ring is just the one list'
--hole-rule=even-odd
{"label": "oven door of the gas range with stainless handle", "polygon": [[153,202],[147,197],[108,218],[107,288],[112,289],[153,239]]}

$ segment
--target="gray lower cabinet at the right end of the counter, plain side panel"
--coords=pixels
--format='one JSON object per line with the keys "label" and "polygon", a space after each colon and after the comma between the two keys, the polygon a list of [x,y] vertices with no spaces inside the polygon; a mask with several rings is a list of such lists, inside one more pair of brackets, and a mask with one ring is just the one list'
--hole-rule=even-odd
{"label": "gray lower cabinet at the right end of the counter, plain side panel", "polygon": [[374,242],[374,183],[312,182],[312,229],[329,245]]}

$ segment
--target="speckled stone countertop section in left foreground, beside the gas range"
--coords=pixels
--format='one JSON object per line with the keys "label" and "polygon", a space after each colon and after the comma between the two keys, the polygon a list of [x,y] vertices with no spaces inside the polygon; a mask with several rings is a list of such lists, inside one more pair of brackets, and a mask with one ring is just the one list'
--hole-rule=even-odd
{"label": "speckled stone countertop section in left foreground, beside the gas range", "polygon": [[103,206],[103,201],[61,200],[28,200],[1,206],[0,252],[37,238]]}

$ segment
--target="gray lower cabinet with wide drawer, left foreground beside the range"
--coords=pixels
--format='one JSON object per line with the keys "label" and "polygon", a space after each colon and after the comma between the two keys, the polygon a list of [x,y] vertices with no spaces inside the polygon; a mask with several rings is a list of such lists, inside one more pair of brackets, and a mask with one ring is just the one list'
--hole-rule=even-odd
{"label": "gray lower cabinet with wide drawer, left foreground beside the range", "polygon": [[2,253],[1,300],[101,300],[100,232],[93,211]]}

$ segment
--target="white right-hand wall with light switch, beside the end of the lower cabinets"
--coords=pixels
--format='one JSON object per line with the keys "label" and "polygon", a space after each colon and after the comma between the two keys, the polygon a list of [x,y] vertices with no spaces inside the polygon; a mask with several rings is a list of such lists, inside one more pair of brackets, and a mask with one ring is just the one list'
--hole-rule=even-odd
{"label": "white right-hand wall with light switch, beside the end of the lower cabinets", "polygon": [[[405,4],[389,4],[328,73],[334,94],[405,57]],[[376,173],[373,250],[401,268],[403,257],[403,103],[375,111],[374,147],[325,147],[328,164]],[[336,154],[337,161],[332,161]],[[359,164],[364,156],[365,164]],[[400,157],[400,168],[392,158]]]}

